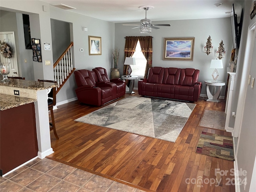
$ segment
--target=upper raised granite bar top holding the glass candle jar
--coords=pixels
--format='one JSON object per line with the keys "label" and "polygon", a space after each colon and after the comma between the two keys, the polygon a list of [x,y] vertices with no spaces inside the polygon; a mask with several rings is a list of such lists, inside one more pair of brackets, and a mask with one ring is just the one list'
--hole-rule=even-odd
{"label": "upper raised granite bar top holding the glass candle jar", "polygon": [[24,89],[42,90],[57,87],[57,83],[49,83],[42,81],[29,81],[22,79],[11,79],[9,82],[0,82],[0,86],[17,87]]}

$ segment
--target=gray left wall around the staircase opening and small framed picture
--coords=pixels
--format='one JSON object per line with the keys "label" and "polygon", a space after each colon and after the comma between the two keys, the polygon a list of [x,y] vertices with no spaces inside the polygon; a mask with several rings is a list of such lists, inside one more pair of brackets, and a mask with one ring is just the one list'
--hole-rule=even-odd
{"label": "gray left wall around the staircase opening and small framed picture", "polygon": [[[114,23],[98,20],[84,15],[75,14],[50,6],[50,17],[54,20],[70,23],[71,41],[73,46],[73,66],[76,70],[95,67],[104,67],[109,72],[112,66],[111,49],[114,48]],[[83,31],[83,27],[88,31]],[[102,55],[89,55],[88,36],[99,36],[102,38]],[[54,44],[53,44],[54,45]],[[80,52],[80,48],[84,51]],[[76,98],[76,82],[74,75],[64,84],[57,94],[57,102]]]}

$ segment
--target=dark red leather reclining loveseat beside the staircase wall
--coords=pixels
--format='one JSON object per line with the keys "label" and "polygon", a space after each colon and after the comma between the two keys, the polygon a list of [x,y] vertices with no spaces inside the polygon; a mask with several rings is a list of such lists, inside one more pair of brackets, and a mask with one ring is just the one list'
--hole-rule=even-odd
{"label": "dark red leather reclining loveseat beside the staircase wall", "polygon": [[104,68],[77,70],[74,75],[78,86],[76,96],[82,103],[101,106],[125,94],[125,81],[109,79]]}

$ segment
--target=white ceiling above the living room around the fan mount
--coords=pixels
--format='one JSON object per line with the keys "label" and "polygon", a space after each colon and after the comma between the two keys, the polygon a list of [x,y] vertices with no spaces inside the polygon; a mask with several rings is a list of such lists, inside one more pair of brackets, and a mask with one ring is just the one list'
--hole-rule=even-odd
{"label": "white ceiling above the living room around the fan mount", "polygon": [[[76,9],[66,10],[114,23],[138,22],[145,18],[139,6],[154,6],[147,11],[152,21],[186,20],[230,17],[232,4],[240,16],[242,1],[236,0],[42,0],[52,4],[65,4]],[[214,4],[222,3],[216,7]]]}

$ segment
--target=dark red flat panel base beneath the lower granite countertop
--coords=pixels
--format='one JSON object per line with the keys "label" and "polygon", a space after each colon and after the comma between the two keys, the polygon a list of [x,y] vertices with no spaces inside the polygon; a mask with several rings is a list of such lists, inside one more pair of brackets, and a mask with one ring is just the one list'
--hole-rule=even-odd
{"label": "dark red flat panel base beneath the lower granite countertop", "polygon": [[37,156],[34,103],[0,111],[0,168],[2,174]]}

